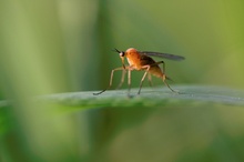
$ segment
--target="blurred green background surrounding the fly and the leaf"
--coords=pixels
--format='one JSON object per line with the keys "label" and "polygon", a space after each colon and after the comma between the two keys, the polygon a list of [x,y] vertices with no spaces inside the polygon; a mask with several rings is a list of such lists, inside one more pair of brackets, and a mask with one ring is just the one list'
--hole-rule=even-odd
{"label": "blurred green background surrounding the fly and the leaf", "polygon": [[[243,8],[241,0],[1,0],[0,99],[14,102],[0,108],[0,161],[244,161],[244,110],[236,107],[60,113],[29,102],[105,88],[121,67],[111,49],[131,47],[184,55],[166,61],[177,84],[242,90]],[[142,73],[132,74],[138,88]]]}

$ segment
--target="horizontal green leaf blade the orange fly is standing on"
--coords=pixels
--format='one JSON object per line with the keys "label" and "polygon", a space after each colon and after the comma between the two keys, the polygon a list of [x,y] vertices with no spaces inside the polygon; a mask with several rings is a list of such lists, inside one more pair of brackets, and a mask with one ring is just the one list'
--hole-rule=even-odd
{"label": "horizontal green leaf blade the orange fly is standing on", "polygon": [[44,101],[68,107],[101,108],[101,107],[162,107],[195,103],[214,103],[244,105],[244,92],[221,87],[175,85],[177,93],[166,88],[143,88],[138,95],[138,89],[109,90],[100,95],[94,91],[71,92],[42,97]]}

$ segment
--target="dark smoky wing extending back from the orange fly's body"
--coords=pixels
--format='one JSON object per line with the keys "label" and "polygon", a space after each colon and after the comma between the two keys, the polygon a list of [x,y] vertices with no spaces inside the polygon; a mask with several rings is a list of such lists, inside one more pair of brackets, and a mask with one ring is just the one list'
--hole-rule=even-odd
{"label": "dark smoky wing extending back from the orange fly's body", "polygon": [[184,57],[170,54],[170,53],[149,52],[149,51],[141,51],[140,53],[145,54],[145,55],[150,55],[150,57],[159,57],[159,58],[176,60],[176,61],[181,61],[181,60],[185,59]]}

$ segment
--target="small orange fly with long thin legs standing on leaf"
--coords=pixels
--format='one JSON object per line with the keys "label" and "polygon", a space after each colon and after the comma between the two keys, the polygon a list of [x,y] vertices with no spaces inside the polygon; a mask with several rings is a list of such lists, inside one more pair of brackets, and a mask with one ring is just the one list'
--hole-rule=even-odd
{"label": "small orange fly with long thin legs standing on leaf", "polygon": [[[151,74],[153,74],[153,75],[162,79],[164,84],[172,92],[176,92],[166,83],[166,79],[170,80],[170,78],[166,77],[166,74],[165,74],[165,63],[164,63],[164,61],[156,62],[151,57],[160,57],[160,58],[170,59],[170,60],[176,60],[176,61],[184,60],[184,57],[169,54],[169,53],[160,53],[160,52],[138,51],[134,48],[130,48],[125,52],[124,51],[119,51],[116,49],[114,49],[114,51],[120,54],[120,58],[122,60],[122,65],[123,67],[113,69],[111,71],[109,87],[106,89],[102,90],[101,92],[93,93],[94,95],[103,93],[104,91],[106,91],[112,85],[113,73],[114,73],[114,71],[118,71],[118,70],[122,70],[123,71],[121,83],[119,84],[119,87],[121,87],[122,83],[124,82],[124,75],[125,75],[125,72],[128,71],[129,94],[130,94],[130,89],[131,89],[131,71],[132,70],[138,70],[138,71],[142,71],[143,70],[143,71],[145,71],[143,77],[142,77],[142,79],[141,79],[138,94],[140,94],[140,92],[141,92],[142,84],[143,84],[143,81],[144,81],[146,74],[148,74],[150,83],[151,83]],[[128,59],[129,65],[124,64],[124,58]],[[162,70],[159,67],[159,64],[161,64],[161,63],[163,64],[163,69]]]}

